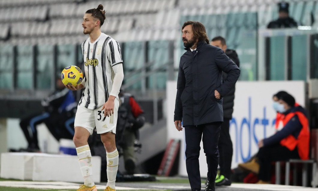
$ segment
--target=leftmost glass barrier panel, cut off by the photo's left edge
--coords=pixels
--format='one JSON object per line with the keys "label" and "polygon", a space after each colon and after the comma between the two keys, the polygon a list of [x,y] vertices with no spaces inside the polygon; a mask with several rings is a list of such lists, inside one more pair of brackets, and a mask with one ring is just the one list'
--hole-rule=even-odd
{"label": "leftmost glass barrier panel, cut off by the photo's left edge", "polygon": [[13,88],[13,46],[1,45],[0,48],[0,89]]}

